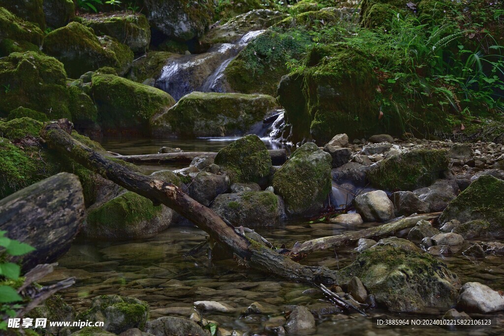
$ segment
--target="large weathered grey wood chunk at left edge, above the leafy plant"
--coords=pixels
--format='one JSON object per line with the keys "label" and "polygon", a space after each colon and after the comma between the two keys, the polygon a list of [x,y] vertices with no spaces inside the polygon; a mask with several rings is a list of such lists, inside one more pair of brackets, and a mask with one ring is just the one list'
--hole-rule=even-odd
{"label": "large weathered grey wood chunk at left edge, above the leafy plant", "polygon": [[76,175],[60,173],[0,200],[0,230],[35,251],[13,258],[23,271],[55,261],[67,252],[85,218]]}

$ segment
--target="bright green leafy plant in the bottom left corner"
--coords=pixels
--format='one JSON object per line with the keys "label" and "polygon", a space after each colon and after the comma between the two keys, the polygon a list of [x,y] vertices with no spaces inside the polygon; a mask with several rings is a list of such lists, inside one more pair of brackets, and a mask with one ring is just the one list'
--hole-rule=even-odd
{"label": "bright green leafy plant in the bottom left corner", "polygon": [[[23,298],[18,294],[17,288],[23,283],[20,278],[21,268],[18,264],[7,262],[6,257],[20,256],[35,250],[28,244],[5,237],[6,231],[0,231],[0,316],[15,316],[16,309],[21,308],[19,302]],[[2,280],[3,279],[3,280]],[[0,321],[0,330],[6,330],[7,323]]]}

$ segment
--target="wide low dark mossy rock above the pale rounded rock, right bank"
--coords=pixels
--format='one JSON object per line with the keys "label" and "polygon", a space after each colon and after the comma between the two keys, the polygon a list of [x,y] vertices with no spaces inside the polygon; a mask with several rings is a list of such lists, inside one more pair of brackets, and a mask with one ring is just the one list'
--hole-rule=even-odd
{"label": "wide low dark mossy rock above the pale rounded rock, right bank", "polygon": [[431,185],[448,169],[448,163],[447,151],[413,150],[380,161],[367,172],[367,178],[380,189],[412,191]]}

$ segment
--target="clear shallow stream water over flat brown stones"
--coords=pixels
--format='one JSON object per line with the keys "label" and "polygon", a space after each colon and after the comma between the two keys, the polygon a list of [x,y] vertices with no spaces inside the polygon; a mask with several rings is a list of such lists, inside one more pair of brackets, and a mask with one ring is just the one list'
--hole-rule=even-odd
{"label": "clear shallow stream water over flat brown stones", "polygon": [[[104,142],[107,150],[120,154],[156,153],[162,146],[179,147],[185,151],[218,151],[234,139],[226,141],[199,140],[131,140]],[[269,145],[273,148],[273,145]],[[154,167],[152,167],[154,168]],[[177,167],[179,168],[179,167]],[[336,224],[290,221],[275,227],[255,228],[275,246],[292,246],[296,241],[336,235],[359,230],[376,223],[345,227]],[[128,241],[96,241],[78,239],[70,251],[58,262],[56,271],[45,278],[44,284],[76,277],[76,284],[62,293],[62,297],[78,311],[89,307],[97,295],[118,294],[136,297],[150,305],[150,318],[172,315],[188,317],[193,302],[211,300],[227,303],[233,313],[203,313],[203,317],[219,322],[227,330],[245,334],[268,334],[283,324],[283,311],[290,305],[306,305],[312,309],[328,310],[322,296],[306,284],[290,282],[271,275],[250,271],[231,259],[210,261],[206,249],[194,256],[184,256],[205,241],[207,234],[189,226],[171,227],[154,237]],[[493,239],[495,240],[495,239]],[[466,242],[452,255],[441,256],[462,283],[477,281],[495,290],[504,290],[504,258],[486,256],[474,259],[462,255],[470,246]],[[333,270],[343,268],[357,256],[354,246],[310,254],[303,263],[324,265]],[[260,302],[268,310],[262,315],[243,316],[253,302]],[[440,318],[445,311],[425,311],[397,314],[377,308],[371,316]],[[490,315],[489,315],[490,316]],[[494,315],[491,315],[494,316]],[[318,318],[317,335],[502,335],[504,314],[497,316],[498,327],[449,330],[434,328],[377,328],[370,318],[356,314],[329,314]]]}

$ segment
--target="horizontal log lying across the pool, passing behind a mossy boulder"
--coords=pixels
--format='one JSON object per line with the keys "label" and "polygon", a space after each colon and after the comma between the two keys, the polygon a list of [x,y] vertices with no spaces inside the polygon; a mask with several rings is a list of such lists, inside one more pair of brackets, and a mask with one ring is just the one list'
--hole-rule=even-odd
{"label": "horizontal log lying across the pool, passing behind a mossy boulder", "polygon": [[[287,160],[287,152],[284,149],[269,150],[271,162],[274,166],[282,165]],[[117,155],[114,159],[120,159],[133,163],[191,163],[197,156],[215,158],[215,152],[177,152],[147,155]]]}

